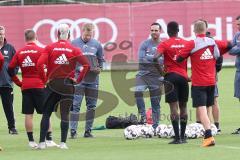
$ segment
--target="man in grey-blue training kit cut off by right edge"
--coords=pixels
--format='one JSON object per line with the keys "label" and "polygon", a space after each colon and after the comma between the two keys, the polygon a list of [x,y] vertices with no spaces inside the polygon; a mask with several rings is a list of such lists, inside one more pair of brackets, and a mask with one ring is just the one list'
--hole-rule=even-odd
{"label": "man in grey-blue training kit cut off by right edge", "polygon": [[[233,48],[229,51],[230,55],[236,56],[235,60],[235,80],[234,80],[234,97],[240,101],[240,16],[236,18],[236,26],[238,32],[232,40]],[[237,128],[232,134],[240,134],[240,128]]]}

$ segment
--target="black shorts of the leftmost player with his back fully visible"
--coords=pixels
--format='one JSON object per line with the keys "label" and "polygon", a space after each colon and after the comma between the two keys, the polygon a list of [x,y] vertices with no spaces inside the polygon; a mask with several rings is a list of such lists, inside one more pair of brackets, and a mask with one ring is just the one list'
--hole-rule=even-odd
{"label": "black shorts of the leftmost player with his back fully visible", "polygon": [[34,109],[38,114],[42,114],[45,101],[44,88],[33,88],[22,91],[22,113],[33,114]]}

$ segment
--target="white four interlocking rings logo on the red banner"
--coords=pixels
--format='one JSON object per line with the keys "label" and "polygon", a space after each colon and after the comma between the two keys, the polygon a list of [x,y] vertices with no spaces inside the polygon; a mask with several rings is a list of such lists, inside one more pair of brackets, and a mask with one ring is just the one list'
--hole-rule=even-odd
{"label": "white four interlocking rings logo on the red banner", "polygon": [[[109,18],[97,18],[95,20],[91,20],[91,19],[88,19],[88,18],[80,18],[80,19],[77,19],[77,20],[71,20],[71,19],[60,19],[58,21],[54,21],[52,19],[43,19],[43,20],[40,20],[38,21],[34,27],[33,27],[33,30],[37,33],[38,30],[45,26],[45,25],[50,25],[51,26],[51,29],[50,29],[50,38],[52,40],[52,42],[55,42],[57,41],[57,37],[56,37],[56,29],[57,29],[57,26],[60,24],[60,23],[67,23],[70,25],[70,31],[71,31],[71,40],[75,39],[76,37],[80,37],[81,36],[81,29],[80,29],[80,24],[84,24],[84,23],[92,23],[94,26],[95,26],[95,35],[94,35],[94,38],[95,39],[98,39],[99,38],[99,35],[100,35],[100,29],[99,29],[99,26],[98,24],[99,23],[105,23],[106,25],[108,25],[111,29],[112,29],[112,36],[111,38],[105,42],[105,43],[108,43],[108,42],[115,42],[116,39],[117,39],[117,35],[118,35],[118,30],[117,30],[117,26],[116,24]],[[73,33],[75,33],[76,35],[74,36]],[[103,45],[105,44],[103,43]],[[38,42],[38,44],[42,47],[44,47],[45,45],[41,42]]]}

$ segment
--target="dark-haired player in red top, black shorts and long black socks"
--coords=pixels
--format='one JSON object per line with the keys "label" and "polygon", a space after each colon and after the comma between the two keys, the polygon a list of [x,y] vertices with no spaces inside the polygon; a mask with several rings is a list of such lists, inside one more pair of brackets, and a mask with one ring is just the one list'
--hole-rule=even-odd
{"label": "dark-haired player in red top, black shorts and long black socks", "polygon": [[[179,50],[185,48],[186,40],[178,37],[179,25],[177,22],[169,22],[167,25],[169,39],[160,43],[155,57],[164,56],[165,81],[173,84],[174,90],[166,95],[165,100],[170,106],[171,122],[175,138],[169,144],[186,143],[185,130],[187,125],[187,101],[189,94],[187,60],[182,63],[176,62]],[[180,109],[180,114],[178,110]],[[179,121],[180,129],[179,132]]]}

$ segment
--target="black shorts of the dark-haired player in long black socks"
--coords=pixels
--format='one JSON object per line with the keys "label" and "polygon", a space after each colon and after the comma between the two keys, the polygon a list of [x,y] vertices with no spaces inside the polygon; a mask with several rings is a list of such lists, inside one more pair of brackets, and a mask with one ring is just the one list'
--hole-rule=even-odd
{"label": "black shorts of the dark-haired player in long black socks", "polygon": [[164,80],[172,83],[174,86],[173,91],[165,96],[167,103],[188,101],[189,86],[186,78],[176,73],[168,73],[165,75]]}

